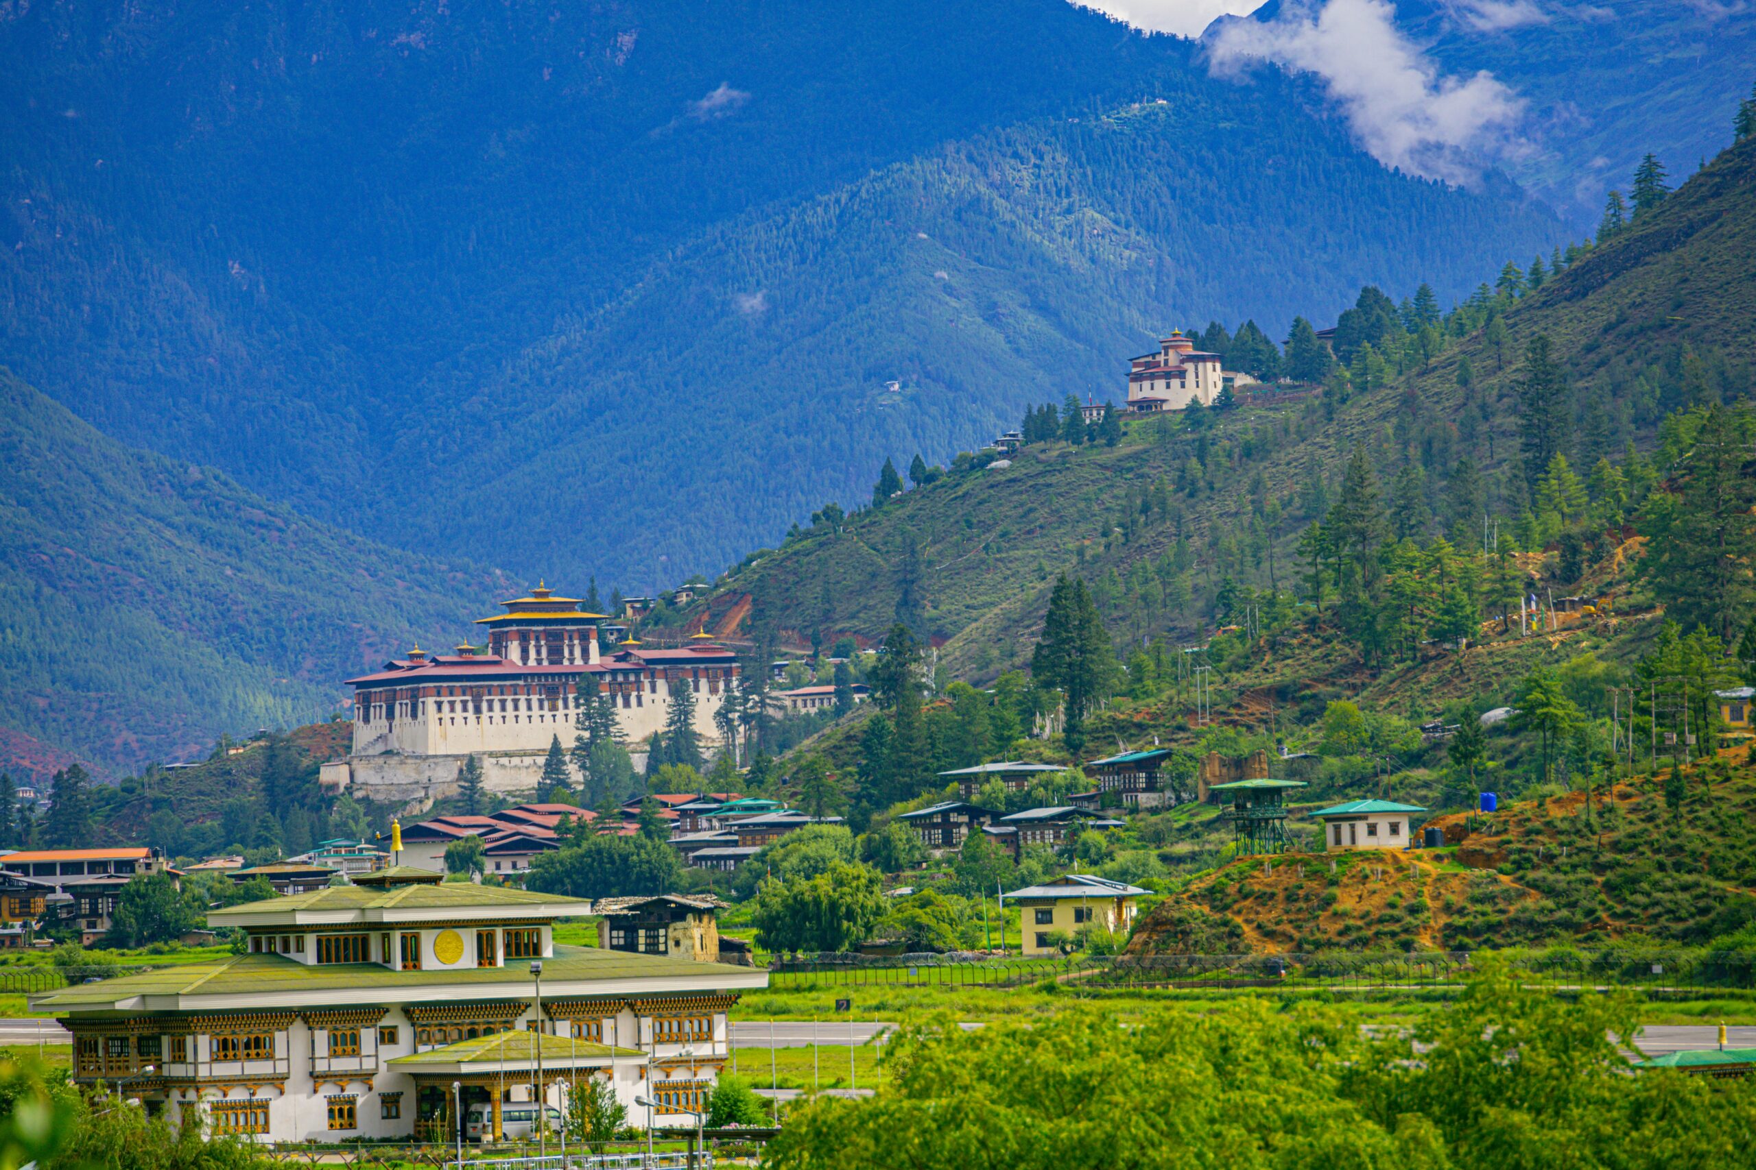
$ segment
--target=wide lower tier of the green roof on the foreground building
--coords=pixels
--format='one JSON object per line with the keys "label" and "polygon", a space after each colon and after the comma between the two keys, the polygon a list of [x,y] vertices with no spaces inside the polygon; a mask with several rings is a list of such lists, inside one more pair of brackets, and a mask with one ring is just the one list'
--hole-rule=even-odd
{"label": "wide lower tier of the green roof on the foreground building", "polygon": [[[339,891],[323,891],[339,893]],[[697,963],[658,954],[632,954],[629,951],[601,951],[597,947],[555,945],[555,954],[543,960],[543,982],[597,979],[711,979],[736,975],[730,986],[745,986],[753,968],[725,963]],[[76,984],[32,996],[33,1010],[102,1009],[137,996],[225,996],[274,991],[323,995],[374,988],[383,991],[418,988],[492,988],[509,982],[529,986],[530,975],[520,967],[448,967],[418,972],[392,970],[378,963],[328,963],[306,967],[283,954],[228,954],[209,963],[162,967],[137,975],[119,975],[102,982]],[[395,996],[390,996],[395,998]],[[321,1000],[311,1000],[313,1005]],[[176,1009],[163,1009],[176,1010]]]}

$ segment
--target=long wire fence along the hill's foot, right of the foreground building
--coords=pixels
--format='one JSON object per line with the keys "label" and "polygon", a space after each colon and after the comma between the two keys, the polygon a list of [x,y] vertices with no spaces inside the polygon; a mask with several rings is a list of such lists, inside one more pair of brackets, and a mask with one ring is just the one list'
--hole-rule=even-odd
{"label": "long wire fence along the hill's foot, right of the foreground building", "polygon": [[[813,986],[983,986],[1055,981],[1071,988],[1310,988],[1331,991],[1459,989],[1477,972],[1470,951],[1328,951],[1317,954],[1120,954],[999,958],[985,954],[813,954],[776,960],[774,989]],[[1552,991],[1633,989],[1651,995],[1756,989],[1756,952],[1572,949],[1500,951],[1493,961],[1531,988]]]}

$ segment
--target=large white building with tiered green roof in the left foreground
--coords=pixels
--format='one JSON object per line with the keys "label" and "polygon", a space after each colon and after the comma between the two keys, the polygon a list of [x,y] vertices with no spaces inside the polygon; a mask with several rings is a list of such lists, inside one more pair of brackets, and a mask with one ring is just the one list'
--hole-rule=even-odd
{"label": "large white building with tiered green roof in the left foreground", "polygon": [[[460,1112],[565,1109],[608,1082],[632,1124],[692,1126],[729,1059],[727,1009],[767,972],[555,942],[592,903],[392,867],[209,924],[244,952],[32,996],[74,1079],[126,1082],[172,1124],[265,1142],[451,1142]],[[458,1086],[453,1089],[453,1084]],[[636,1098],[657,1102],[637,1105]]]}

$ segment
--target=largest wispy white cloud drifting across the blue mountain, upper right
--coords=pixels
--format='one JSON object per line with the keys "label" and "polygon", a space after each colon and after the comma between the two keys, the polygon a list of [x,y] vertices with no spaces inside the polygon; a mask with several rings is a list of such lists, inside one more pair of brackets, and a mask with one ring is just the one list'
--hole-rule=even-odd
{"label": "largest wispy white cloud drifting across the blue mountain, upper right", "polygon": [[1445,77],[1396,28],[1387,0],[1294,0],[1273,23],[1227,21],[1208,40],[1217,74],[1256,60],[1315,74],[1359,144],[1387,167],[1470,184],[1484,158],[1515,153],[1524,102],[1489,72]]}

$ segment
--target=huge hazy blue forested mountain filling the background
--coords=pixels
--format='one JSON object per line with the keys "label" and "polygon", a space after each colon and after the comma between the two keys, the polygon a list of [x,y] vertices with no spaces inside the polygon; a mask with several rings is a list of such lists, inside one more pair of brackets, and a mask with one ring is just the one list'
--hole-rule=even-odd
{"label": "huge hazy blue forested mountain filling the background", "polygon": [[644,589],[1169,323],[1565,235],[1192,53],[1062,0],[23,7],[0,360],[318,519]]}

